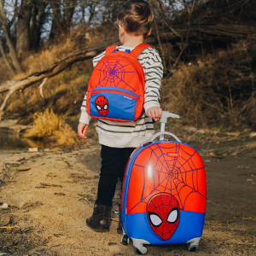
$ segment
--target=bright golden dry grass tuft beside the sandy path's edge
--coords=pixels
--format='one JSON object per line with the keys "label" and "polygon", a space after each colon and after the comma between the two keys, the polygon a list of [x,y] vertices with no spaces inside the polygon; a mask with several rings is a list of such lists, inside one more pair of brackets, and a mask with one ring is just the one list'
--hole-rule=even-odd
{"label": "bright golden dry grass tuft beside the sandy path's edge", "polygon": [[57,145],[79,143],[75,131],[67,125],[63,117],[55,114],[51,109],[34,114],[32,128],[26,131],[24,137],[44,138],[51,144]]}

